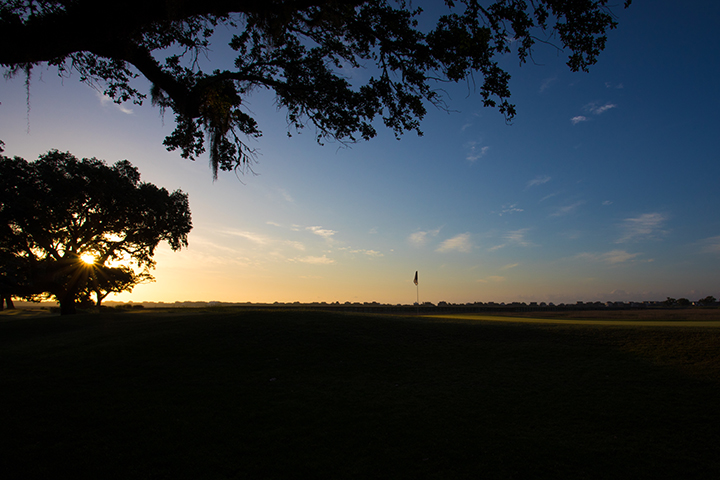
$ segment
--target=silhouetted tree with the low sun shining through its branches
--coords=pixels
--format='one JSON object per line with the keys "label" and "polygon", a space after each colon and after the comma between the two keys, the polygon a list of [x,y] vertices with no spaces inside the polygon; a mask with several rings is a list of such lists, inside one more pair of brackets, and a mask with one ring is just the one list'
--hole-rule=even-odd
{"label": "silhouetted tree with the low sun shining through its branches", "polygon": [[161,241],[187,246],[187,194],[140,182],[127,160],[48,152],[34,162],[0,155],[0,293],[75,302],[152,279]]}

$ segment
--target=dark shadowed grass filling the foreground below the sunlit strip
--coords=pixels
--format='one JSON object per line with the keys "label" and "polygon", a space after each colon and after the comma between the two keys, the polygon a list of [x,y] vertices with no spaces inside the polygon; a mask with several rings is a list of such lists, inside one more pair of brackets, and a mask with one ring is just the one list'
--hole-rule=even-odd
{"label": "dark shadowed grass filling the foreground below the sunlit strip", "polygon": [[0,319],[5,479],[720,475],[720,329]]}

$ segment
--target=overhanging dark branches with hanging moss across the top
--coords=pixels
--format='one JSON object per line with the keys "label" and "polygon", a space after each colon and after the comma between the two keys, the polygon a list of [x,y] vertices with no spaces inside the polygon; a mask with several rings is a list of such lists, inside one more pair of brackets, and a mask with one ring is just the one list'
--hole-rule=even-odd
{"label": "overhanging dark branches with hanging moss across the top", "polygon": [[[512,119],[497,56],[515,50],[525,62],[548,42],[572,71],[587,70],[616,26],[608,0],[425,3],[433,11],[405,0],[7,0],[0,64],[28,76],[40,63],[76,71],[118,103],[142,102],[132,79],[145,77],[153,104],[175,114],[167,148],[194,158],[207,145],[217,175],[251,159],[254,89],[273,91],[289,125],[314,125],[318,142],[372,138],[378,118],[396,135],[421,134],[426,102],[443,105],[442,82],[470,82]],[[219,26],[234,33],[234,67],[203,71],[196,60]]]}

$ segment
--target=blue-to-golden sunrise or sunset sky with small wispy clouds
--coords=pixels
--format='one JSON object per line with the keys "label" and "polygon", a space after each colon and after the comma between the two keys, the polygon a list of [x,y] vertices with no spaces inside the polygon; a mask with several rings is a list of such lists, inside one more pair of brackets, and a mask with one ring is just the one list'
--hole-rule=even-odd
{"label": "blue-to-golden sunrise or sunset sky with small wispy clouds", "polygon": [[[622,2],[618,2],[622,3]],[[110,301],[413,303],[720,297],[720,3],[635,0],[590,73],[538,46],[512,74],[517,116],[444,86],[413,133],[346,147],[288,137],[250,99],[256,175],[182,159],[149,102],[116,105],[55,70],[0,80],[5,155],[50,149],[188,193],[188,248],[158,249],[154,283]],[[209,65],[227,57],[216,44]],[[362,75],[362,71],[355,72]],[[140,84],[142,85],[142,84]],[[29,101],[28,101],[29,99]],[[419,285],[413,283],[419,272]]]}

